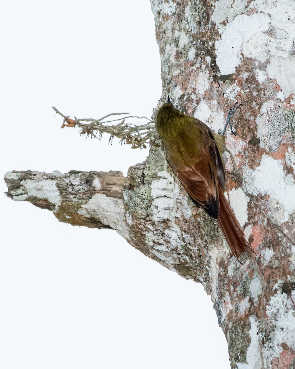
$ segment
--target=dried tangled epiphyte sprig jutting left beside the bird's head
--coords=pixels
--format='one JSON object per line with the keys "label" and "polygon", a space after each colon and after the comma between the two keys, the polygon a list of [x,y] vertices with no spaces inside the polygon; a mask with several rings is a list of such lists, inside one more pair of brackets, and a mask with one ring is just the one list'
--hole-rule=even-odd
{"label": "dried tangled epiphyte sprig jutting left beside the bird's head", "polygon": [[[114,115],[126,115],[129,113],[112,113],[105,115],[99,119],[92,118],[83,118],[83,119],[71,119],[66,115],[60,113],[54,106],[52,107],[55,111],[55,114],[59,114],[63,117],[63,124],[61,128],[64,127],[79,127],[81,130],[79,131],[80,135],[86,134],[90,137],[98,138],[101,140],[103,133],[107,133],[110,135],[109,143],[112,143],[114,137],[118,137],[120,139],[121,145],[124,142],[127,145],[131,145],[132,149],[142,149],[146,148],[146,144],[159,147],[155,141],[159,139],[157,132],[155,130],[155,122],[146,117],[136,117],[133,115],[127,115],[125,117],[120,117],[118,119],[114,119]],[[131,120],[137,119],[146,119],[147,123],[136,125],[131,123]],[[107,120],[109,119],[109,120]],[[83,123],[89,122],[89,123]],[[114,122],[118,122],[114,124]],[[109,125],[113,123],[112,125]]]}

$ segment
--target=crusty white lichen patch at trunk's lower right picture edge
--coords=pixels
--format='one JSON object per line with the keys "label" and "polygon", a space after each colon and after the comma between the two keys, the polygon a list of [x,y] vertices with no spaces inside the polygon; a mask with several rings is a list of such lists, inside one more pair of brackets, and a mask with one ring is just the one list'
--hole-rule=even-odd
{"label": "crusty white lichen patch at trunk's lower right picture edge", "polygon": [[283,351],[282,344],[295,349],[295,314],[294,303],[287,294],[277,292],[266,306],[270,329],[270,345],[265,345],[267,361],[270,364]]}

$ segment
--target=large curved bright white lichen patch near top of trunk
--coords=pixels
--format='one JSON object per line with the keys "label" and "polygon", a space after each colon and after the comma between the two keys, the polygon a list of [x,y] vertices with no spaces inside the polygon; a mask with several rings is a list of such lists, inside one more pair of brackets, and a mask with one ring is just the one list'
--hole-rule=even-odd
{"label": "large curved bright white lichen patch near top of trunk", "polygon": [[249,17],[246,14],[237,15],[226,26],[219,27],[221,39],[216,41],[216,63],[223,75],[235,73],[242,59],[243,45],[256,32],[266,31],[270,17],[267,14],[256,13]]}

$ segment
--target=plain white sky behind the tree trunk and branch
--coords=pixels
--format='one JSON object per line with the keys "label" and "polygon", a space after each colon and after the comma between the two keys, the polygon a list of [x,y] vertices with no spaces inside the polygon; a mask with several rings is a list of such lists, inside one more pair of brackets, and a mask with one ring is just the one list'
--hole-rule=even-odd
{"label": "plain white sky behind the tree trunk and branch", "polygon": [[[8,170],[121,170],[148,150],[60,129],[78,118],[150,117],[161,96],[148,0],[1,6],[1,177]],[[72,227],[1,181],[0,367],[230,368],[201,284],[115,231]]]}

